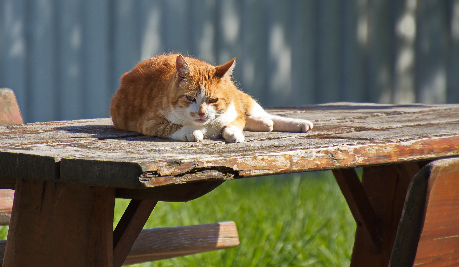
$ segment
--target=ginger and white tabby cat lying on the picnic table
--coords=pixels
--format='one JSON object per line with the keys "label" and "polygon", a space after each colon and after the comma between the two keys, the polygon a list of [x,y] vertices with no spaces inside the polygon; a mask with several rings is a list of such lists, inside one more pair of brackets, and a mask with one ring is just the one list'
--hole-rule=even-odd
{"label": "ginger and white tabby cat lying on the picnic table", "polygon": [[213,66],[162,54],[121,77],[110,114],[116,129],[181,141],[244,142],[243,130],[307,132],[308,120],[268,114],[231,81],[235,59]]}

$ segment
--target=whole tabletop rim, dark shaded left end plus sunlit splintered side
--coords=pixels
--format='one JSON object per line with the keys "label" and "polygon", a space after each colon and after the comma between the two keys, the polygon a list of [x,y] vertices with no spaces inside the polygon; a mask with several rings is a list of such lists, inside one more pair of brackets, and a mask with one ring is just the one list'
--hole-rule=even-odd
{"label": "whole tabletop rim, dark shaded left end plus sunlit splintered side", "polygon": [[[162,163],[142,166],[134,162],[57,159],[22,153],[0,153],[7,163],[33,162],[29,168],[11,169],[3,177],[67,181],[75,184],[142,189],[206,180],[232,180],[269,174],[355,168],[459,155],[459,134],[398,142],[308,148],[269,154],[202,158],[168,166],[174,175],[160,175]],[[156,166],[156,167],[155,167]],[[45,170],[45,171],[44,171]],[[2,184],[0,177],[0,185]],[[10,184],[10,182],[7,182]],[[5,185],[3,188],[11,188]]]}

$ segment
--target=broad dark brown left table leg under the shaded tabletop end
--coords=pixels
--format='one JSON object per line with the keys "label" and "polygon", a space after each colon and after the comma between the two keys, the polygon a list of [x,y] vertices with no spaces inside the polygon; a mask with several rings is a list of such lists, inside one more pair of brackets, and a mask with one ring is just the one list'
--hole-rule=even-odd
{"label": "broad dark brown left table leg under the shaded tabletop end", "polygon": [[17,180],[3,266],[113,266],[115,189]]}

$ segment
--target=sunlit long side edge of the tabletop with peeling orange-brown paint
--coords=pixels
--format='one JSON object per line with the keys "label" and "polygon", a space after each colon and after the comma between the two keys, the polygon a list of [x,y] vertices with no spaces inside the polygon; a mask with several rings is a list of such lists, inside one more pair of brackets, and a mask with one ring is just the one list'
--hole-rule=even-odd
{"label": "sunlit long side edge of the tabletop with peeling orange-brown paint", "polygon": [[202,159],[190,163],[190,166],[186,166],[187,163],[181,164],[177,168],[181,172],[178,175],[153,174],[149,177],[150,173],[155,173],[151,171],[144,171],[140,175],[143,176],[143,186],[155,187],[199,180],[231,180],[268,174],[355,168],[455,156],[459,154],[457,144],[459,134],[400,142],[320,147],[268,155],[255,154],[208,161]]}

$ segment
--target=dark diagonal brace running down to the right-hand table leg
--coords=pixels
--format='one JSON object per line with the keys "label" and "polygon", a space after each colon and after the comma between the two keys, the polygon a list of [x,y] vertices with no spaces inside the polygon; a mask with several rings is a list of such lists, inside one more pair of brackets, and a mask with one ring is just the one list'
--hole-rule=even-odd
{"label": "dark diagonal brace running down to the right-hand table leg", "polygon": [[333,170],[333,174],[369,251],[375,254],[379,253],[381,249],[380,220],[376,216],[355,170],[336,169]]}

